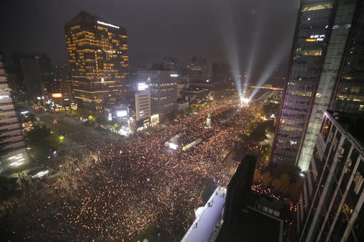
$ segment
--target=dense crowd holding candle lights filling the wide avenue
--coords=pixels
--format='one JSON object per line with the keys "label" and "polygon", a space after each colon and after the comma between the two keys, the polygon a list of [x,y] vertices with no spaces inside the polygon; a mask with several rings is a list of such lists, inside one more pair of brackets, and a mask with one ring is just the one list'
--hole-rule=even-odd
{"label": "dense crowd holding candle lights filling the wide avenue", "polygon": [[[222,102],[158,131],[70,158],[63,165],[67,175],[23,197],[25,214],[11,217],[11,226],[18,225],[14,238],[129,241],[151,223],[161,230],[161,241],[181,238],[194,209],[203,205],[200,192],[228,184],[232,171],[223,160],[257,109],[237,110]],[[205,128],[208,114],[211,128]],[[198,138],[203,142],[188,151],[165,147],[177,133],[183,133],[178,140],[183,145]],[[249,144],[246,148],[256,151]]]}

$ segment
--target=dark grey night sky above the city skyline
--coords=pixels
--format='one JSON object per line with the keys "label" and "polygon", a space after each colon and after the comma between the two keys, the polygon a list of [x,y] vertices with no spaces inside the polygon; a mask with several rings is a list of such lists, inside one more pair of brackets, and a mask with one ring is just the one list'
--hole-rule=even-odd
{"label": "dark grey night sky above the city skyline", "polygon": [[[127,28],[132,67],[164,56],[207,57],[252,74],[287,71],[297,0],[1,1],[0,43],[11,53],[38,52],[68,62],[63,25],[84,10]],[[253,58],[254,57],[254,58]],[[254,61],[253,61],[254,60]],[[260,74],[259,74],[260,75]]]}

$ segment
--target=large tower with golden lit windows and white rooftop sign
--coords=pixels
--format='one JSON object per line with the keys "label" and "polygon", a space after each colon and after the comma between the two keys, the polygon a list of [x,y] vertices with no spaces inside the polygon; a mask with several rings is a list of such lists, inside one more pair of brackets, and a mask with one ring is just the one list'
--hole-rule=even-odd
{"label": "large tower with golden lit windows and white rooftop sign", "polygon": [[65,24],[73,99],[84,109],[129,103],[127,30],[80,11]]}

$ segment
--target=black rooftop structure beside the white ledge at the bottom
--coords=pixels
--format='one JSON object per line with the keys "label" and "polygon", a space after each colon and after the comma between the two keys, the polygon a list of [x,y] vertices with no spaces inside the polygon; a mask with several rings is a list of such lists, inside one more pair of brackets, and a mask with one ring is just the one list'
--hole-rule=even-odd
{"label": "black rooftop structure beside the white ledge at the bottom", "polygon": [[223,225],[215,241],[282,241],[283,222],[279,219],[281,214],[277,214],[277,202],[251,190],[256,161],[257,158],[245,155],[232,176]]}

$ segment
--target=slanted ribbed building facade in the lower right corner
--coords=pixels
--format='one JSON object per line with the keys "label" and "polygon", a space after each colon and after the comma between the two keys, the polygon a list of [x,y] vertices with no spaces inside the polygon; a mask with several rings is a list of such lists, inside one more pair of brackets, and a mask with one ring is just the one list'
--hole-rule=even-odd
{"label": "slanted ribbed building facade in the lower right corner", "polygon": [[363,121],[323,114],[296,210],[299,241],[364,241]]}

